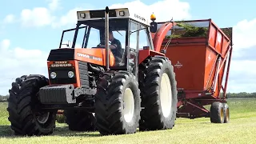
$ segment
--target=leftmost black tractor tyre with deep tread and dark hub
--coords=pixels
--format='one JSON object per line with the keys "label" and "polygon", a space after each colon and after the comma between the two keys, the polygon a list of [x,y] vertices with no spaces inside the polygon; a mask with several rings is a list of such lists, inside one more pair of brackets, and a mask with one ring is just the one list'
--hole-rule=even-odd
{"label": "leftmost black tractor tyre with deep tread and dark hub", "polygon": [[48,79],[42,75],[22,76],[12,83],[7,111],[15,134],[32,136],[53,133],[57,111],[36,109],[40,106],[38,90],[48,84]]}

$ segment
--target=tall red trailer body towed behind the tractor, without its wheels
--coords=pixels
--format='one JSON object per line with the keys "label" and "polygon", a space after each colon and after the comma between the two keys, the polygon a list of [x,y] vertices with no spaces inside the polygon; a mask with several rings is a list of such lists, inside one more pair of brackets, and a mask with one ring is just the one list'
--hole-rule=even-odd
{"label": "tall red trailer body towed behind the tractor, without its wheels", "polygon": [[[176,22],[178,23],[178,22]],[[220,29],[211,19],[182,21],[203,27],[200,37],[165,38],[161,50],[173,62],[178,86],[178,114],[182,118],[209,117],[204,106],[226,102],[226,87],[232,54],[232,28]],[[158,22],[161,26],[163,22]],[[166,36],[184,34],[173,26]]]}

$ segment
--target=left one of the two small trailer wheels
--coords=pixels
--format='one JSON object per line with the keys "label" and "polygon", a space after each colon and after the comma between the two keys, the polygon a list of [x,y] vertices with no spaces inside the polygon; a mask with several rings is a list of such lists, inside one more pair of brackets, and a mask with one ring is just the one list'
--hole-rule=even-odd
{"label": "left one of the two small trailer wheels", "polygon": [[221,102],[214,102],[210,106],[210,122],[213,123],[223,123],[224,116],[224,106]]}

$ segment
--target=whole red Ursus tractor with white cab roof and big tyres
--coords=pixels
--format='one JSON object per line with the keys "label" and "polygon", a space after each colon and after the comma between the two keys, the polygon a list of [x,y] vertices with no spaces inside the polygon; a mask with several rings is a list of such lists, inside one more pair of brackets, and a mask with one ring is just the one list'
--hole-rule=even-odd
{"label": "whole red Ursus tractor with white cab roof and big tyres", "polygon": [[72,46],[62,48],[61,40],[50,51],[49,78],[30,74],[12,83],[7,110],[15,134],[53,133],[57,110],[64,110],[70,130],[173,128],[177,82],[160,48],[174,22],[158,30],[152,16],[148,22],[128,9],[78,11],[76,28],[63,31],[74,31]]}

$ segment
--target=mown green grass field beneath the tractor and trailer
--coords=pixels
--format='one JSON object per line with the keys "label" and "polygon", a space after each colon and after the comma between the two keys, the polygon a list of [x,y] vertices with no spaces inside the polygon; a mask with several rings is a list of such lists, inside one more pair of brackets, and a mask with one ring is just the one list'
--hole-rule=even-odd
{"label": "mown green grass field beneath the tractor and trailer", "polygon": [[209,118],[177,118],[173,130],[138,132],[118,136],[69,131],[57,124],[54,134],[16,137],[10,130],[6,102],[0,102],[0,143],[256,143],[256,98],[229,99],[230,123],[213,124]]}

